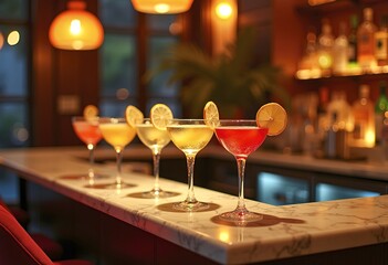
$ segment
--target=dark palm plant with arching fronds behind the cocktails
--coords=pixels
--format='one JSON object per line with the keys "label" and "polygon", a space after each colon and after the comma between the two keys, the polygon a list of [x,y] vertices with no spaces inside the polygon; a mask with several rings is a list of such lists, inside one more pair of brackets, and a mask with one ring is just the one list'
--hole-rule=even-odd
{"label": "dark palm plant with arching fronds behind the cocktails", "polygon": [[177,44],[148,77],[169,71],[168,82],[181,85],[180,99],[190,117],[202,116],[205,104],[213,100],[222,118],[252,118],[252,112],[272,96],[287,98],[277,82],[281,70],[252,62],[253,40],[253,29],[243,29],[224,53],[213,57],[193,44]]}

